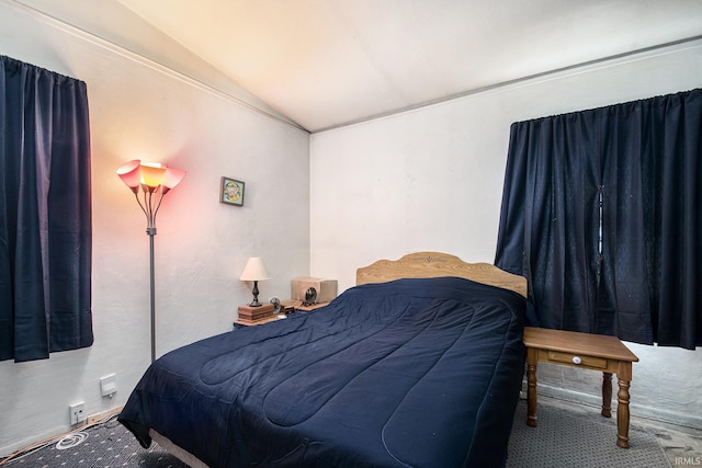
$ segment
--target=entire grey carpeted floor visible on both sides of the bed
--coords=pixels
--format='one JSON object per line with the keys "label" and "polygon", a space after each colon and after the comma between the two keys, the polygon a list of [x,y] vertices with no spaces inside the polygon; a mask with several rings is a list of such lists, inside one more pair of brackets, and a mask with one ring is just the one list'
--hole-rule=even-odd
{"label": "entire grey carpeted floor visible on both sides of the bed", "polygon": [[[573,404],[550,403],[548,399],[540,398],[537,418],[539,425],[529,427],[525,423],[526,402],[520,400],[507,468],[669,468],[694,464],[702,456],[702,438],[693,436],[690,446],[670,436],[675,431],[666,432],[637,422],[632,422],[630,427],[631,448],[620,448],[615,444],[616,419],[602,418],[595,408],[574,408]],[[676,448],[682,456],[666,454]],[[186,468],[156,443],[144,449],[115,419],[54,440],[12,459],[0,460],[0,465],[2,468]]]}

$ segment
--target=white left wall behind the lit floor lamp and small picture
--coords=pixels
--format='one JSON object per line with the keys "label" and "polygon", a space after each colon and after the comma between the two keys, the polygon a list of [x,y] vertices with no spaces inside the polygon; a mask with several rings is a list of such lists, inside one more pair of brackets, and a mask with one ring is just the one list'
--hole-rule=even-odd
{"label": "white left wall behind the lit floor lamp and small picture", "polygon": [[[157,355],[231,330],[250,300],[238,281],[261,255],[272,278],[261,298],[287,297],[309,273],[308,134],[226,95],[63,26],[0,2],[0,54],[88,83],[92,138],[93,327],[86,350],[0,363],[0,456],[69,426],[68,406],[87,414],[124,404],[150,361],[148,237],[134,196],[115,174],[144,159],[188,171],[158,214]],[[219,178],[246,182],[245,206],[218,203]],[[114,399],[100,377],[116,373]]]}

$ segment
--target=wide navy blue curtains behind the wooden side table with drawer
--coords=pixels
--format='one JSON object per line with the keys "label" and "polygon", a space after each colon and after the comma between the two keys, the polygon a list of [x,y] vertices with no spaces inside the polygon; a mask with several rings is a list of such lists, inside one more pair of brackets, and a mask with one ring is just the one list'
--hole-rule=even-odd
{"label": "wide navy blue curtains behind the wooden side table with drawer", "polygon": [[702,345],[701,141],[702,90],[512,124],[495,264],[542,327]]}

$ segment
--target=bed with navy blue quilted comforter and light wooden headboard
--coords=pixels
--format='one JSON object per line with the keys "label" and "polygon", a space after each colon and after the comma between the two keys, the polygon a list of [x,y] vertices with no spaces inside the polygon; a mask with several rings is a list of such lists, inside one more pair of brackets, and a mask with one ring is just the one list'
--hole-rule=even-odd
{"label": "bed with navy blue quilted comforter and light wooden headboard", "polygon": [[172,351],[118,416],[191,466],[502,466],[526,282],[419,252],[328,306]]}

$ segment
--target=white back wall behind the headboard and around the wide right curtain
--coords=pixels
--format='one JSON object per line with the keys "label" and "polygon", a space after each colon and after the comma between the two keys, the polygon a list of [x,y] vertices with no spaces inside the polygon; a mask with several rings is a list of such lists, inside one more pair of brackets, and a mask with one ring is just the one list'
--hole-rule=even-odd
{"label": "white back wall behind the headboard and around the wide right curtain", "polygon": [[[701,85],[697,42],[315,134],[312,274],[338,278],[343,290],[356,266],[418,250],[492,262],[511,123]],[[633,413],[702,427],[689,412],[702,390],[702,350],[632,350],[641,358]],[[542,367],[542,391],[598,401],[597,373]]]}

